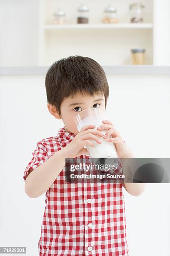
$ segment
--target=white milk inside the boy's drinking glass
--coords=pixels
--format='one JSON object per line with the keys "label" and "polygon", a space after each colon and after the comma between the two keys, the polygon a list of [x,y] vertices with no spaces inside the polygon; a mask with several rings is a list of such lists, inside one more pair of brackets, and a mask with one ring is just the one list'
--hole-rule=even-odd
{"label": "white milk inside the boy's drinking glass", "polygon": [[[97,130],[97,127],[103,124],[103,123],[95,123],[94,121],[90,123],[89,119],[87,120],[87,123],[84,121],[85,121],[85,118],[83,119],[83,126],[87,124],[94,124],[96,125],[96,127],[94,128],[95,130]],[[80,131],[80,126],[77,126],[77,129],[78,131]],[[100,132],[104,135],[106,131],[107,130],[102,130]],[[90,139],[90,141],[94,143],[95,147],[86,146],[87,151],[89,152],[91,158],[117,158],[117,153],[116,153],[114,143],[107,142],[103,137],[100,137],[100,136],[97,136],[97,137],[102,141],[102,143],[98,144],[96,141]]]}

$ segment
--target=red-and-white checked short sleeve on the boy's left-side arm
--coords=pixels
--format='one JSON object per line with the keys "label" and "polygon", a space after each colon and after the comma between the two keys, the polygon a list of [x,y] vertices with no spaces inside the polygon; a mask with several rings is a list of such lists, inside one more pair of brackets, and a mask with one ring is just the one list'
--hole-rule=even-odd
{"label": "red-and-white checked short sleeve on the boy's left-side arm", "polygon": [[47,152],[45,151],[45,146],[41,141],[37,143],[35,150],[32,152],[32,159],[28,163],[28,166],[24,171],[24,180],[28,177],[28,174],[32,172],[35,168],[43,164],[48,159]]}

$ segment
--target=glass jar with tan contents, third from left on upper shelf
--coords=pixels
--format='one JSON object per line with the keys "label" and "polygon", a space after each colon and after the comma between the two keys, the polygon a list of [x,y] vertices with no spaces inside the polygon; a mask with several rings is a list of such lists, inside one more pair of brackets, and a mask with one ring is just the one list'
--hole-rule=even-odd
{"label": "glass jar with tan contents, third from left on upper shelf", "polygon": [[104,10],[104,18],[102,19],[103,23],[118,23],[117,18],[117,10],[112,5],[107,5],[107,7]]}

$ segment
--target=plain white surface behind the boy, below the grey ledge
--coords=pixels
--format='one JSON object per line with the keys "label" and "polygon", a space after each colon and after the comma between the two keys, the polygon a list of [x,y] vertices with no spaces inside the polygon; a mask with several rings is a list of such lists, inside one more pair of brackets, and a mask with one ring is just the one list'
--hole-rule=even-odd
{"label": "plain white surface behind the boy, below the grey ledge", "polygon": [[[170,157],[170,76],[107,75],[107,116],[136,157]],[[31,199],[23,174],[37,141],[56,136],[62,121],[47,111],[45,76],[0,77],[0,246],[26,246],[36,256],[45,194]],[[146,184],[140,197],[125,190],[131,256],[168,256],[170,184]]]}

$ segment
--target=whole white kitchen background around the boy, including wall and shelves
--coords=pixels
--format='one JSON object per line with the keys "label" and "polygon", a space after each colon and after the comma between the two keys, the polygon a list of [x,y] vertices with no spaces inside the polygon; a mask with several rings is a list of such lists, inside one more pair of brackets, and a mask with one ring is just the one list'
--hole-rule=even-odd
{"label": "whole white kitchen background around the boy, including wall and shelves", "polygon": [[[81,3],[90,10],[88,24],[76,24]],[[48,113],[44,84],[57,59],[77,54],[98,61],[110,87],[106,114],[135,156],[170,158],[170,2],[141,0],[143,23],[130,23],[132,3],[0,1],[0,246],[26,246],[28,256],[38,255],[45,195],[29,198],[23,173],[37,141],[63,126]],[[102,23],[108,4],[118,23]],[[54,24],[57,8],[65,11],[63,25]],[[145,49],[143,65],[132,65],[131,49]],[[170,255],[169,195],[169,184],[146,184],[140,197],[124,189],[131,256]]]}

